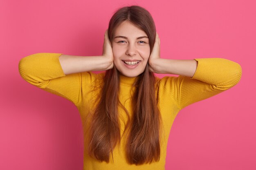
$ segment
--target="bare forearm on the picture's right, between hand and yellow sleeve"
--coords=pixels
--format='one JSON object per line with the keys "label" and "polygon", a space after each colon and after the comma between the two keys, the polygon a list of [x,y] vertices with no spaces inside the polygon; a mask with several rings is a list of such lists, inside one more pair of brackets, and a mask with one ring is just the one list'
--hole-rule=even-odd
{"label": "bare forearm on the picture's right, between hand and yellow sleeve", "polygon": [[159,58],[154,60],[154,68],[160,74],[175,74],[193,77],[198,62],[195,60],[171,60]]}

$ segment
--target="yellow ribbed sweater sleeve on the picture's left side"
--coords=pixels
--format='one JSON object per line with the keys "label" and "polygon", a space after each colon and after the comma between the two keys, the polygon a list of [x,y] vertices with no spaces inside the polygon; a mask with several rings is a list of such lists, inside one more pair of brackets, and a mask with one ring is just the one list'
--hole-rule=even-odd
{"label": "yellow ribbed sweater sleeve on the picture's left side", "polygon": [[36,53],[24,57],[19,62],[20,76],[28,83],[64,97],[78,106],[82,98],[83,87],[93,81],[95,73],[83,72],[65,75],[59,56],[63,53]]}

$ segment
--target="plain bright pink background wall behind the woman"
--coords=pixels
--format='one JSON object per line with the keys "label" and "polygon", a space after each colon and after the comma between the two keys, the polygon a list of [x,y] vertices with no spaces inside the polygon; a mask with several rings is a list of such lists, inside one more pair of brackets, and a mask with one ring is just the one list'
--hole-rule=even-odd
{"label": "plain bright pink background wall behind the woman", "polygon": [[180,111],[166,170],[256,169],[254,0],[1,0],[0,170],[83,169],[77,108],[25,82],[18,63],[43,52],[101,55],[112,14],[130,5],[152,14],[162,58],[221,57],[243,69],[236,86]]}

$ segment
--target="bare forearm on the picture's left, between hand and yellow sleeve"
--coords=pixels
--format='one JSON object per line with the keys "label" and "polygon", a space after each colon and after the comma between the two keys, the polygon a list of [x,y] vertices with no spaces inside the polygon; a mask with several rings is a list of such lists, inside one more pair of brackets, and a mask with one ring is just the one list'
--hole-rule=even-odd
{"label": "bare forearm on the picture's left, between hand and yellow sleeve", "polygon": [[86,71],[104,71],[111,64],[107,57],[61,55],[59,61],[65,75]]}

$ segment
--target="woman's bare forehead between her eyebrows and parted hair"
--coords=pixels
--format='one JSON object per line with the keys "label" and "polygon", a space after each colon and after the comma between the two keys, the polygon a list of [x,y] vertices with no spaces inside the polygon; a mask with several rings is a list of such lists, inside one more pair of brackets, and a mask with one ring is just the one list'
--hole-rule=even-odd
{"label": "woman's bare forehead between her eyebrows and parted hair", "polygon": [[128,38],[137,38],[139,36],[146,36],[146,33],[131,22],[124,21],[115,29],[114,36],[118,35],[126,36]]}

